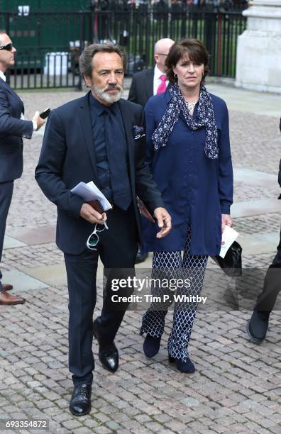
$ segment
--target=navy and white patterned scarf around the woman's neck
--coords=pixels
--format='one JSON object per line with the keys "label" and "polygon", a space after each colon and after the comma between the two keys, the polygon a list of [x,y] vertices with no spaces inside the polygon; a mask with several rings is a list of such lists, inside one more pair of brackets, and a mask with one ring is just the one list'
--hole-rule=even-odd
{"label": "navy and white patterned scarf around the woman's neck", "polygon": [[182,96],[182,91],[177,84],[173,84],[172,87],[170,87],[170,94],[172,98],[167,106],[167,110],[162,116],[162,119],[152,136],[154,150],[157,151],[162,146],[167,145],[170,133],[172,133],[172,128],[174,128],[180,113],[182,113],[188,128],[191,130],[198,130],[203,127],[206,128],[206,157],[211,159],[218,158],[218,131],[216,129],[216,121],[214,118],[213,103],[206,87],[202,86],[199,93],[199,104],[197,108],[198,122],[194,121],[194,118],[189,114],[187,104]]}

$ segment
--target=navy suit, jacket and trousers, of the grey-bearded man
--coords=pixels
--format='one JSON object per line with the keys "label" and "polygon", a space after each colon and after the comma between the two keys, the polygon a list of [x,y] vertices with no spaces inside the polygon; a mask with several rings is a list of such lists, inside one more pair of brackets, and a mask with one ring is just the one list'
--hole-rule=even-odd
{"label": "navy suit, jacket and trousers, of the grey-bearded man", "polygon": [[[111,269],[106,274],[109,282],[113,276],[126,276],[126,270],[121,269],[133,269],[137,241],[140,240],[136,196],[143,199],[151,212],[163,206],[160,192],[145,164],[145,138],[133,138],[133,126],[143,126],[143,109],[123,99],[118,104],[126,135],[133,200],[127,211],[118,206],[109,211],[109,230],[99,233],[97,252],[85,248],[94,225],[79,217],[84,200],[70,192],[81,181],[92,180],[99,187],[88,95],[51,112],[35,170],[35,178],[45,196],[57,205],[57,246],[65,253],[67,268],[70,371],[75,384],[92,382],[92,316],[97,296],[98,256],[105,269]],[[127,304],[119,311],[113,311],[109,287],[106,286],[99,328],[102,340],[110,343],[115,338]]]}

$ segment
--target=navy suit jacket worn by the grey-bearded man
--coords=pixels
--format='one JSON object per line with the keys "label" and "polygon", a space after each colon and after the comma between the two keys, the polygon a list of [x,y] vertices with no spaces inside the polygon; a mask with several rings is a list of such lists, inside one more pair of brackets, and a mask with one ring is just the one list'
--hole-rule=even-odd
{"label": "navy suit jacket worn by the grey-bearded man", "polygon": [[[133,138],[133,126],[144,125],[143,109],[124,99],[118,104],[126,133],[128,172],[140,239],[136,196],[152,213],[158,206],[163,206],[163,202],[145,162],[145,138]],[[35,179],[45,196],[57,205],[57,247],[65,253],[78,255],[86,248],[94,225],[79,216],[84,200],[72,194],[70,189],[81,181],[93,181],[99,187],[88,95],[51,111]]]}

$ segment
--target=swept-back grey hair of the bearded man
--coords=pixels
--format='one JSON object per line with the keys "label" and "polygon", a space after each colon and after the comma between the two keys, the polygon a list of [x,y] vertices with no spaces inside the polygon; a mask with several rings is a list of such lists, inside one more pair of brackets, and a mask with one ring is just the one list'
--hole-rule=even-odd
{"label": "swept-back grey hair of the bearded man", "polygon": [[79,57],[79,69],[82,77],[92,77],[92,60],[97,52],[116,52],[121,57],[123,69],[126,71],[127,55],[120,45],[114,45],[113,43],[92,44],[85,48]]}

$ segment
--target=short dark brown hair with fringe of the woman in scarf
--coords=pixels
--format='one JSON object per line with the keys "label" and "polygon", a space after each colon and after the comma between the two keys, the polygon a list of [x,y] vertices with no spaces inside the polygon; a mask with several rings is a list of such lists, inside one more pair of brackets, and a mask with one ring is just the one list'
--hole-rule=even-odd
{"label": "short dark brown hair with fringe of the woman in scarf", "polygon": [[165,66],[167,68],[167,79],[170,83],[177,83],[172,67],[177,65],[177,62],[188,55],[192,62],[204,63],[204,74],[202,84],[205,82],[205,77],[209,74],[209,53],[205,45],[199,39],[186,38],[176,42],[170,48],[169,54],[166,57]]}

